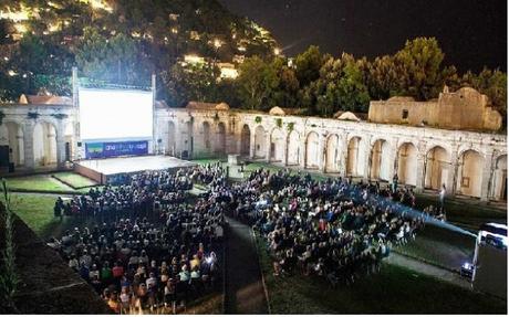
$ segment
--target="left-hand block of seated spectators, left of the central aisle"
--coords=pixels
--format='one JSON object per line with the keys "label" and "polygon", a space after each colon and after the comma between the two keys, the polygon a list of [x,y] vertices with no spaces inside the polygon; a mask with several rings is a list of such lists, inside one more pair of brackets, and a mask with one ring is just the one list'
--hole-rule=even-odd
{"label": "left-hand block of seated spectators, left of the central aisle", "polygon": [[67,231],[51,245],[113,311],[175,314],[218,284],[222,208],[206,196],[184,200],[193,180],[214,183],[218,176],[220,166],[147,171],[66,203],[59,198],[55,207],[70,205],[97,224]]}

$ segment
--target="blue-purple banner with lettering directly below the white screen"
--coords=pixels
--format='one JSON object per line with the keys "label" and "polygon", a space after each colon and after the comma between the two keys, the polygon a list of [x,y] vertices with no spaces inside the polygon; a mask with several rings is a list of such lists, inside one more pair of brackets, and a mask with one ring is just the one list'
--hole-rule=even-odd
{"label": "blue-purple banner with lettering directly below the white screen", "polygon": [[148,141],[92,142],[85,144],[87,159],[148,154]]}

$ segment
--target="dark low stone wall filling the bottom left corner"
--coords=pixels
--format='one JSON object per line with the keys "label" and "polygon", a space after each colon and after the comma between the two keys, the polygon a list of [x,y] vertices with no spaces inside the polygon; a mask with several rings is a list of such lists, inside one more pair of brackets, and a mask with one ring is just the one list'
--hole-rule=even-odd
{"label": "dark low stone wall filling the bottom left corner", "polygon": [[[0,205],[1,208],[1,205]],[[112,314],[95,290],[14,215],[19,314]],[[0,249],[4,231],[0,230]],[[0,309],[1,310],[1,309]]]}

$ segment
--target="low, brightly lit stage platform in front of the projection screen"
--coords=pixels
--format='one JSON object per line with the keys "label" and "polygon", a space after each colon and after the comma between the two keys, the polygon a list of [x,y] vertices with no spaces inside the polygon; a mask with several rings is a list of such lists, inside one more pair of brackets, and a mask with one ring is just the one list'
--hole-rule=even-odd
{"label": "low, brightly lit stage platform in front of the projection screen", "polygon": [[74,162],[74,171],[105,184],[121,175],[145,170],[177,170],[194,166],[197,163],[168,156],[141,156],[81,160]]}

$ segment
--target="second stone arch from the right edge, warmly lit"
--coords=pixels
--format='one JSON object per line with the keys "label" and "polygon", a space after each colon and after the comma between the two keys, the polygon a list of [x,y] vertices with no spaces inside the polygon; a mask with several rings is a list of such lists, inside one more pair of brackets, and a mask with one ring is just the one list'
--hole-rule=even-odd
{"label": "second stone arch from the right edge, warmly lit", "polygon": [[459,156],[457,193],[480,198],[484,161],[482,155],[476,150],[466,150]]}

